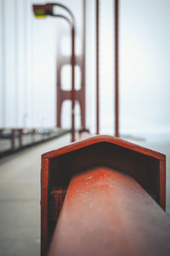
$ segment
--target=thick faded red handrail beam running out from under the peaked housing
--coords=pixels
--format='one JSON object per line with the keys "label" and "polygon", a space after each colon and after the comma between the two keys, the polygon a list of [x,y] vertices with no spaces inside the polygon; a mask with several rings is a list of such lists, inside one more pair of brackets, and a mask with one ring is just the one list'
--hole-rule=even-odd
{"label": "thick faded red handrail beam running out from under the peaked housing", "polygon": [[132,177],[99,166],[71,178],[48,256],[170,255],[170,218]]}

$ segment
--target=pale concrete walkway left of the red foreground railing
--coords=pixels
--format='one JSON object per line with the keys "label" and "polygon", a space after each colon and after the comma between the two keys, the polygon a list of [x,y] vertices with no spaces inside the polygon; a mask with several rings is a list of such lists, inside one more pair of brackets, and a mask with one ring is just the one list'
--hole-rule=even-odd
{"label": "pale concrete walkway left of the red foreground railing", "polygon": [[41,154],[70,135],[0,160],[0,255],[40,255]]}

